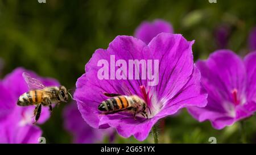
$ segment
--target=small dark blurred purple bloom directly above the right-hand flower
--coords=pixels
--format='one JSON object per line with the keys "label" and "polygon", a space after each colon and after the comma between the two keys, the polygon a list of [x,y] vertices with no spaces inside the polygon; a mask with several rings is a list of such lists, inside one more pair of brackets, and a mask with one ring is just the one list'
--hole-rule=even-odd
{"label": "small dark blurred purple bloom directly above the right-hand flower", "polygon": [[226,48],[230,35],[230,27],[228,25],[218,26],[214,32],[218,49]]}

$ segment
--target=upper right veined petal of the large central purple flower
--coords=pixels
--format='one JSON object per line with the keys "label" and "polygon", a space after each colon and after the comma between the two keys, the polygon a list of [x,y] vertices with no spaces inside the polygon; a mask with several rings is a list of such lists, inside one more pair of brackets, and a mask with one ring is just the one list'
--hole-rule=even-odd
{"label": "upper right veined petal of the large central purple flower", "polygon": [[158,99],[173,98],[191,78],[192,44],[193,41],[187,41],[181,35],[168,33],[159,34],[148,44],[154,58],[159,60],[160,64],[159,83],[154,88]]}

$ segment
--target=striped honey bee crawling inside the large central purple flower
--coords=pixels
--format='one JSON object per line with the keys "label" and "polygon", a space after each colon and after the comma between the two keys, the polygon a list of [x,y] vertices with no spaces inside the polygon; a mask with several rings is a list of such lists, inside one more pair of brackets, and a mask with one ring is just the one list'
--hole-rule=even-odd
{"label": "striped honey bee crawling inside the large central purple flower", "polygon": [[146,109],[150,111],[146,102],[138,97],[137,95],[119,95],[119,94],[109,94],[104,93],[109,99],[104,100],[98,106],[98,110],[104,111],[104,115],[114,114],[121,111],[131,111],[133,112],[133,118],[136,119],[136,114],[141,114],[144,118],[148,119]]}

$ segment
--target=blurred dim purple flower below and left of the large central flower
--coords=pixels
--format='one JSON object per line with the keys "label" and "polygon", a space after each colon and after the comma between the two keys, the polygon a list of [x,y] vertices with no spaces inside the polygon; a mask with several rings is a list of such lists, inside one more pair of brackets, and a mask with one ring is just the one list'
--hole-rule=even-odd
{"label": "blurred dim purple flower below and left of the large central flower", "polygon": [[90,127],[77,108],[77,104],[70,104],[64,109],[64,126],[73,135],[73,143],[98,143],[105,136],[112,136],[113,129],[95,129]]}

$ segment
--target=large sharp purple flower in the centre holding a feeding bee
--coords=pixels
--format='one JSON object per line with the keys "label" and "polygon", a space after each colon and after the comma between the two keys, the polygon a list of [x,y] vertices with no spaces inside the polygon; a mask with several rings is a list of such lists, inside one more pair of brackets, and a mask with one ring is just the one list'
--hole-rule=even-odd
{"label": "large sharp purple flower in the centre holding a feeding bee", "polygon": [[[201,89],[200,72],[193,64],[192,44],[193,41],[187,41],[179,34],[160,33],[148,45],[132,36],[117,36],[108,49],[97,49],[85,66],[85,74],[76,82],[74,98],[82,118],[94,128],[113,127],[123,137],[134,135],[142,141],[159,119],[173,115],[183,107],[204,107],[207,104],[207,94]],[[122,60],[127,64],[129,60],[145,60],[148,64],[150,61],[159,62],[159,66],[154,64],[154,67],[158,66],[154,68],[159,79],[158,85],[149,85],[148,78],[113,79],[110,75],[112,79],[99,79],[98,71],[102,66],[98,66],[98,62],[104,60],[111,65],[113,61],[110,62],[110,57],[113,56],[117,62]],[[120,68],[119,65],[114,67],[115,70]],[[106,71],[110,74],[114,72],[113,68]],[[123,74],[125,71],[127,70],[124,69]],[[139,70],[139,75],[142,77],[142,69]],[[104,92],[137,95],[146,101],[151,114],[147,111],[148,119],[137,115],[136,120],[128,112],[101,115],[98,106],[108,99]]]}

